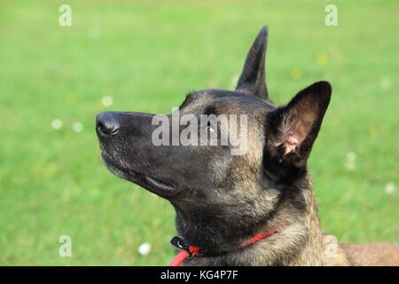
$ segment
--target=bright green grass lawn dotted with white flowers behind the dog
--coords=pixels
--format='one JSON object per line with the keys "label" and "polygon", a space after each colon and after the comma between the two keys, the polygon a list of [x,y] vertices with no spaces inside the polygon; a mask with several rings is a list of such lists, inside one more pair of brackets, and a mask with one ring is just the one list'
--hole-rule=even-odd
{"label": "bright green grass lawn dotted with white flowers behind the dog", "polygon": [[[174,212],[106,170],[95,114],[168,113],[192,89],[230,89],[264,23],[276,103],[318,80],[333,86],[309,161],[325,232],[398,241],[397,1],[334,1],[335,28],[325,27],[326,1],[67,2],[70,28],[58,24],[65,1],[0,4],[0,264],[168,264]],[[113,106],[100,104],[105,95]],[[73,257],[59,256],[63,234]],[[146,241],[152,251],[140,256]]]}

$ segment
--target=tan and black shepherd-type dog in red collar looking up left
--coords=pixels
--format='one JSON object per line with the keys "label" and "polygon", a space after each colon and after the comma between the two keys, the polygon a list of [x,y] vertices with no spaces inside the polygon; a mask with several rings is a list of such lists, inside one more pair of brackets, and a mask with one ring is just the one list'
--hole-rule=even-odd
{"label": "tan and black shepherd-type dog in red collar looking up left", "polygon": [[[332,87],[313,83],[275,106],[265,83],[267,39],[265,26],[235,91],[192,91],[177,110],[198,121],[246,115],[244,154],[231,154],[231,145],[154,145],[156,114],[103,112],[96,131],[106,167],[170,201],[181,236],[172,242],[185,250],[184,265],[399,264],[394,244],[341,245],[322,232],[307,161]],[[195,131],[208,139],[226,131],[199,124]]]}

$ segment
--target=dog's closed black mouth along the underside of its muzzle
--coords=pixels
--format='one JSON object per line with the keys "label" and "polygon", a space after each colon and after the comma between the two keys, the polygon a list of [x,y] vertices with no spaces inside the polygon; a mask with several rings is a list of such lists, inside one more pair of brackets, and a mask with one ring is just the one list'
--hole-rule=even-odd
{"label": "dog's closed black mouth along the underside of its muzzle", "polygon": [[162,197],[169,197],[179,192],[179,188],[175,183],[145,175],[138,170],[131,170],[127,169],[126,167],[122,167],[118,162],[113,161],[112,156],[107,154],[106,150],[102,151],[101,156],[106,164],[106,168],[114,175],[140,185],[152,193]]}

